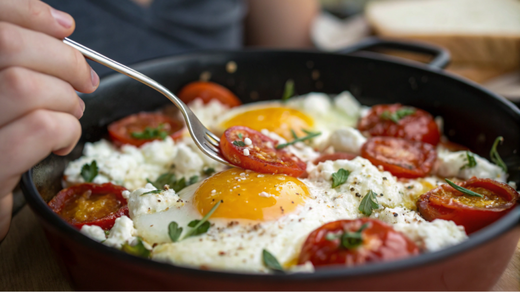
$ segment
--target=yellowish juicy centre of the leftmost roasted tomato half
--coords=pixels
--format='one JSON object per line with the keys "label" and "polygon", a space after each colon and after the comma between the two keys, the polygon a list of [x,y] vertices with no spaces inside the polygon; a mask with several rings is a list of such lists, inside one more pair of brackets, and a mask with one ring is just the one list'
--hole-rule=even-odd
{"label": "yellowish juicy centre of the leftmost roasted tomato half", "polygon": [[115,213],[122,204],[111,193],[92,195],[92,191],[71,198],[60,212],[60,216],[69,222],[85,222],[103,218]]}

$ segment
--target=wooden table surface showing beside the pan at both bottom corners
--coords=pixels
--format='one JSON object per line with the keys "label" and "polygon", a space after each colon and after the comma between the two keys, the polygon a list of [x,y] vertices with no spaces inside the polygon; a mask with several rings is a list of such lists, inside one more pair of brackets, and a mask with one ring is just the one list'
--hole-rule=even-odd
{"label": "wooden table surface showing beside the pan at both bottom corners", "polygon": [[[0,290],[72,290],[29,206],[24,206],[13,218],[11,229],[0,245]],[[520,244],[492,291],[519,290]]]}

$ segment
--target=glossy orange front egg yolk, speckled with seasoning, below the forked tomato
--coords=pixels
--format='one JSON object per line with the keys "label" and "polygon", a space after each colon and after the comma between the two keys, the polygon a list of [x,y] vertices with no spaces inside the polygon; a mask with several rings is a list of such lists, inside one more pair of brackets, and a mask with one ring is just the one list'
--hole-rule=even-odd
{"label": "glossy orange front egg yolk, speckled with seasoning, below the forked tomato", "polygon": [[303,205],[309,191],[300,180],[232,168],[206,179],[193,204],[201,215],[222,200],[211,218],[276,220]]}

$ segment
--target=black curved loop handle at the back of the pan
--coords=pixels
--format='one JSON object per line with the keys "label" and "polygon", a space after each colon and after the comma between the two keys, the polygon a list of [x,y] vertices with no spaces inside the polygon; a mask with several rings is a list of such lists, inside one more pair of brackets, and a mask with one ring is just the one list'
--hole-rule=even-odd
{"label": "black curved loop handle at the back of the pan", "polygon": [[447,49],[427,45],[423,43],[416,42],[401,42],[401,41],[391,41],[388,39],[381,39],[378,37],[369,37],[364,39],[363,41],[352,45],[350,47],[344,48],[338,53],[340,54],[352,54],[357,51],[373,49],[373,48],[388,48],[388,49],[398,49],[403,51],[412,51],[418,52],[422,54],[433,55],[433,60],[427,65],[434,68],[444,69],[450,62],[450,53]]}

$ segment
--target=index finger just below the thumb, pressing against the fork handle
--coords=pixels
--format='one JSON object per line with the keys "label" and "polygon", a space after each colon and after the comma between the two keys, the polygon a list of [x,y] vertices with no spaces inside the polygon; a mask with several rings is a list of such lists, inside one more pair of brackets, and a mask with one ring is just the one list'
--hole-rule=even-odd
{"label": "index finger just below the thumb, pressing against the fork handle", "polygon": [[98,75],[76,49],[46,34],[0,22],[0,70],[9,67],[53,75],[85,93],[99,84]]}

